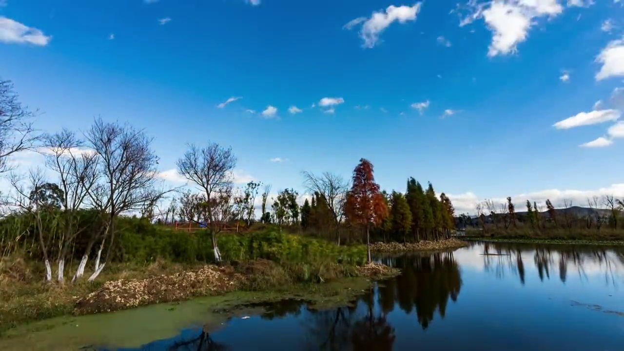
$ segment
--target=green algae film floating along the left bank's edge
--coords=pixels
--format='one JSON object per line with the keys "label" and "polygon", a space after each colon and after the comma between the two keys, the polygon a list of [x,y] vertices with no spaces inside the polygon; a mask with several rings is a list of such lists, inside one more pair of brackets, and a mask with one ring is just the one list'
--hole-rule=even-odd
{"label": "green algae film floating along the left bank's edge", "polygon": [[149,305],[106,314],[66,316],[21,325],[0,337],[0,349],[72,350],[84,345],[139,347],[152,340],[173,337],[180,329],[207,325],[215,329],[230,317],[262,312],[249,304],[303,300],[313,309],[348,304],[371,287],[364,278],[341,279],[327,284],[298,284],[266,292],[232,292],[185,302]]}

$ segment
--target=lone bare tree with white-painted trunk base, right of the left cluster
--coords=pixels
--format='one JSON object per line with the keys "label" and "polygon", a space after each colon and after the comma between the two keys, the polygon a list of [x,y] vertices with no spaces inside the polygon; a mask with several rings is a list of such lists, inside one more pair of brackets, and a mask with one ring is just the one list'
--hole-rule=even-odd
{"label": "lone bare tree with white-painted trunk base, right of the left cluster", "polygon": [[[232,148],[220,146],[215,142],[208,142],[208,146],[199,148],[190,145],[187,152],[177,161],[178,172],[193,182],[204,192],[207,206],[207,219],[210,222],[215,260],[221,261],[221,254],[217,245],[217,233],[220,224],[217,222],[215,201],[225,200],[222,195],[231,195],[233,186],[232,172],[236,167],[236,157]],[[231,199],[228,198],[228,201]]]}

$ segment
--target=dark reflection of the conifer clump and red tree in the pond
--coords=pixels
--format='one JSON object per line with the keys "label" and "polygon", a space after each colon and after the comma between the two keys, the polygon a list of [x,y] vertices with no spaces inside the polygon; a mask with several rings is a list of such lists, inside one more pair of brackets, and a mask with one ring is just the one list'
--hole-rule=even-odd
{"label": "dark reflection of the conifer clump and red tree in the pond", "polygon": [[[359,308],[314,312],[305,320],[310,349],[391,350],[394,328],[387,316],[397,307],[427,329],[437,313],[444,318],[449,299],[456,301],[462,280],[452,253],[406,255],[381,259],[401,268],[389,279],[359,297]],[[365,308],[364,308],[365,307]]]}

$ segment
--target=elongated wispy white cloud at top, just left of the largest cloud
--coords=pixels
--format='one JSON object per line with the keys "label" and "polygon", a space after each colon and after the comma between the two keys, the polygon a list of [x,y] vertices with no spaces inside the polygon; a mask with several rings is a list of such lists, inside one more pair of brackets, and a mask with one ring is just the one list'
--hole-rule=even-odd
{"label": "elongated wispy white cloud at top, just left of the largest cloud", "polygon": [[416,15],[421,10],[421,2],[417,2],[414,6],[394,6],[390,5],[385,10],[373,12],[370,18],[358,17],[349,21],[344,25],[344,29],[352,29],[359,24],[362,27],[359,36],[363,40],[363,47],[374,47],[379,41],[381,33],[392,24],[392,22],[405,23],[407,21],[416,21]]}

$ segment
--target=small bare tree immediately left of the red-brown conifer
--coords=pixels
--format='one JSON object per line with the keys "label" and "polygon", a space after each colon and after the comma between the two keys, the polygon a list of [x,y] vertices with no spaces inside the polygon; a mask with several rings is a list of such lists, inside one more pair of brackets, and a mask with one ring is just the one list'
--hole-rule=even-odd
{"label": "small bare tree immediately left of the red-brown conifer", "polygon": [[349,182],[343,177],[331,172],[323,172],[316,176],[311,172],[303,172],[304,184],[311,193],[318,193],[334,219],[336,242],[340,245],[340,222],[344,217],[344,201],[349,190]]}

